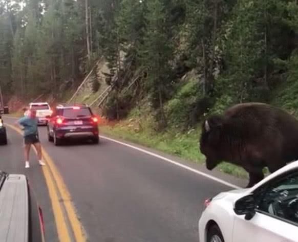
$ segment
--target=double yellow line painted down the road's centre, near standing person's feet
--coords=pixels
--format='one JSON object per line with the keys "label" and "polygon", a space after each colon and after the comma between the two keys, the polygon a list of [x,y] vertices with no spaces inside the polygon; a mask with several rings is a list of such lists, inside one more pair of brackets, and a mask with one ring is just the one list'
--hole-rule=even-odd
{"label": "double yellow line painted down the road's centre, near standing person's feet", "polygon": [[[6,125],[22,135],[20,129],[7,123]],[[71,195],[65,182],[63,182],[54,161],[44,148],[42,148],[42,156],[47,163],[47,166],[42,166],[42,172],[44,173],[46,184],[49,189],[49,196],[53,207],[59,241],[73,242],[72,238],[74,237],[76,242],[87,242],[83,227],[76,215]],[[63,211],[66,211],[66,213]]]}

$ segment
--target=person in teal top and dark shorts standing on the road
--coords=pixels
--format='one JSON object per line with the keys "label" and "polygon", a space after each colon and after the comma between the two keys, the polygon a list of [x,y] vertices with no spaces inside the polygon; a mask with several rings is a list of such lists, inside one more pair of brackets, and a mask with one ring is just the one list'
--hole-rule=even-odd
{"label": "person in teal top and dark shorts standing on the road", "polygon": [[41,144],[38,138],[38,128],[37,128],[37,119],[36,119],[36,111],[30,109],[27,116],[20,118],[17,123],[24,127],[24,148],[25,148],[25,168],[29,168],[29,153],[31,145],[34,145],[37,151],[37,157],[39,161],[39,165],[46,165],[42,161],[42,153],[41,153]]}

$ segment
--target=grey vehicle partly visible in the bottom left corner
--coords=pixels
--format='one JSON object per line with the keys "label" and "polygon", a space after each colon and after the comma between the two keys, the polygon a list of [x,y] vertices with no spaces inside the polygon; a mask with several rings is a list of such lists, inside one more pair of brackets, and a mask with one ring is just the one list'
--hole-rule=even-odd
{"label": "grey vehicle partly visible in the bottom left corner", "polygon": [[23,174],[0,171],[0,241],[45,242],[42,210]]}

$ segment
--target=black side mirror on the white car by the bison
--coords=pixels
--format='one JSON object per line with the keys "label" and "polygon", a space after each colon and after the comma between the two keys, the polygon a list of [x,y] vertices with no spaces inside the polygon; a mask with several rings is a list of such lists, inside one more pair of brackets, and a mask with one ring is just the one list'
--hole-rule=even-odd
{"label": "black side mirror on the white car by the bison", "polygon": [[245,215],[246,220],[250,220],[256,214],[256,203],[252,194],[241,197],[234,205],[237,215]]}

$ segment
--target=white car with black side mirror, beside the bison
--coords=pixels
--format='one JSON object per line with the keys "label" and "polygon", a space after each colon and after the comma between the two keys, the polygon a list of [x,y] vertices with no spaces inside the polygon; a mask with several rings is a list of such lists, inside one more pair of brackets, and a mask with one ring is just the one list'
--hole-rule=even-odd
{"label": "white car with black side mirror, beside the bison", "polygon": [[298,161],[205,201],[200,242],[298,242]]}

